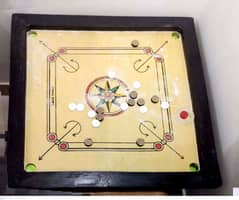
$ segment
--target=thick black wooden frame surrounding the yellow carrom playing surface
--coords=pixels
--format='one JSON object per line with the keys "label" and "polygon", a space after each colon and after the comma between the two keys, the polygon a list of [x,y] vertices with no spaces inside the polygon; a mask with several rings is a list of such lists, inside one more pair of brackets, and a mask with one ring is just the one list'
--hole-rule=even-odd
{"label": "thick black wooden frame surrounding the yellow carrom playing surface", "polygon": [[[184,53],[195,113],[200,159],[199,172],[38,172],[24,171],[26,32],[49,30],[174,30],[183,37]],[[211,188],[221,184],[201,58],[192,18],[184,17],[103,17],[14,14],[12,17],[7,147],[10,187],[41,189],[170,189]],[[77,181],[76,181],[77,180]]]}

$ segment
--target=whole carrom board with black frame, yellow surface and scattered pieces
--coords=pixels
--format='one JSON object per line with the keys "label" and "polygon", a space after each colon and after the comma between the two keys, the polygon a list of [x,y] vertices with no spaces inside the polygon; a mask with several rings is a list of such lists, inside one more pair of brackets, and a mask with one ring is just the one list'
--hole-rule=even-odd
{"label": "whole carrom board with black frame, yellow surface and scattered pieces", "polygon": [[[14,140],[17,127],[9,113],[8,157],[21,143],[22,177],[15,185],[220,183],[190,18],[30,16],[13,18],[12,45],[23,47],[13,48],[12,59],[18,60],[11,66],[11,85],[23,80],[16,86],[23,92],[10,93],[10,110],[19,93],[23,112],[16,118],[21,141]],[[16,39],[19,20],[29,25]],[[13,74],[17,61],[24,69],[20,79]]]}

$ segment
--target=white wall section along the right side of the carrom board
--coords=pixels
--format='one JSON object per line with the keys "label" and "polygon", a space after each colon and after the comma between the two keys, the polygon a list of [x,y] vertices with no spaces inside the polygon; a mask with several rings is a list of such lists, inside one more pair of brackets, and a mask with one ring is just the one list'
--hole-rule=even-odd
{"label": "white wall section along the right side of the carrom board", "polygon": [[232,187],[239,187],[238,9],[237,0],[210,1],[197,16],[204,74],[224,181],[221,188],[213,191],[218,194],[231,194]]}

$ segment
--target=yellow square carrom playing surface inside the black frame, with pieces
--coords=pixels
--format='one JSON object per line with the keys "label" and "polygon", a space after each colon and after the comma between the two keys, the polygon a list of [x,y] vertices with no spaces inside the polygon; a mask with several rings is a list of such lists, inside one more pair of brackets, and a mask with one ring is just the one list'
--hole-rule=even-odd
{"label": "yellow square carrom playing surface inside the black frame, with pieces", "polygon": [[200,170],[181,35],[27,33],[27,172]]}

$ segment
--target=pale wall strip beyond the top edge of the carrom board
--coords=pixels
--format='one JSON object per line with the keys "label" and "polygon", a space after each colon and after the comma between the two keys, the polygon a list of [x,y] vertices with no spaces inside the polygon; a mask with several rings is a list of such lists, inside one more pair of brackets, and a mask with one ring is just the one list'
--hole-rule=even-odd
{"label": "pale wall strip beyond the top edge of the carrom board", "polygon": [[0,43],[2,48],[0,48],[0,81],[8,80],[12,13],[195,16],[201,12],[206,4],[207,0],[198,2],[188,0],[1,0]]}

